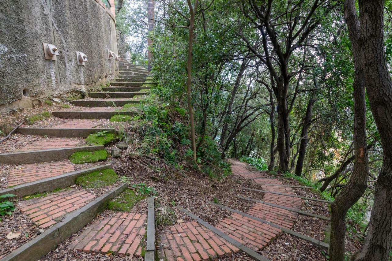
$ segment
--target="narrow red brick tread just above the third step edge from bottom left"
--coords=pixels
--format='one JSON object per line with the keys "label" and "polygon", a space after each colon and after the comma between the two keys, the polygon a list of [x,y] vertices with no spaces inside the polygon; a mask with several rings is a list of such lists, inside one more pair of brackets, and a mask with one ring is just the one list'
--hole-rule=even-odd
{"label": "narrow red brick tread just above the third step edge from bottom left", "polygon": [[56,148],[72,148],[76,147],[80,143],[77,139],[72,138],[50,138],[45,140],[34,141],[25,147],[14,150],[18,151],[29,151],[29,150],[45,150],[45,149],[56,149]]}

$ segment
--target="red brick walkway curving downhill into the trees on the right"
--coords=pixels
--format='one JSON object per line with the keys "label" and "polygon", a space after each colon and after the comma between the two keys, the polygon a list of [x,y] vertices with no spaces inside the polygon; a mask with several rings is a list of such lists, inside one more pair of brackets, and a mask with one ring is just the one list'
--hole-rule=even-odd
{"label": "red brick walkway curving downhill into the trees on the right", "polygon": [[[243,178],[253,178],[256,183],[261,185],[263,190],[294,194],[291,188],[263,185],[265,183],[281,185],[281,182],[279,179],[273,178],[258,179],[265,178],[265,176],[260,172],[248,170],[247,166],[245,163],[233,160],[232,172],[234,175]],[[290,196],[265,193],[263,201],[291,208],[299,209],[301,207],[301,199]],[[246,214],[285,228],[291,228],[298,216],[296,212],[271,207],[263,203],[255,203]],[[233,213],[222,219],[215,225],[215,228],[255,251],[267,246],[281,233],[279,228],[238,213]],[[195,221],[176,224],[169,229],[159,235],[160,245],[163,249],[163,253],[160,253],[161,258],[166,257],[169,261],[209,260],[224,255],[229,256],[239,251],[238,248],[230,245],[222,237]]]}

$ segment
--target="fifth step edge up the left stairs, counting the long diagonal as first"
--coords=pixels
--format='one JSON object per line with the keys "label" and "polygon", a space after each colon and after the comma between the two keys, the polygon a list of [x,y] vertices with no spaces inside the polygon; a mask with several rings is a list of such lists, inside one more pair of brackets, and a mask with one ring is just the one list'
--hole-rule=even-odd
{"label": "fifth step edge up the left stairs, counting the long diagonal as first", "polygon": [[[116,111],[53,111],[52,115],[65,119],[110,119],[114,115],[134,116],[137,112],[116,112]],[[1,161],[0,161],[1,162]]]}

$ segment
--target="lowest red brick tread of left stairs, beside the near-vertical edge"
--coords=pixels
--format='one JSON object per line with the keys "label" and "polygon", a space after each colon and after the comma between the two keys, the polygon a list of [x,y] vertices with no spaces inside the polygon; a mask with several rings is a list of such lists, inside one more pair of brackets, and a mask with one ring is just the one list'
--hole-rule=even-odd
{"label": "lowest red brick tread of left stairs, beside the near-vertical edge", "polygon": [[140,242],[146,232],[146,214],[118,212],[113,217],[100,217],[68,246],[78,251],[122,256],[141,256]]}

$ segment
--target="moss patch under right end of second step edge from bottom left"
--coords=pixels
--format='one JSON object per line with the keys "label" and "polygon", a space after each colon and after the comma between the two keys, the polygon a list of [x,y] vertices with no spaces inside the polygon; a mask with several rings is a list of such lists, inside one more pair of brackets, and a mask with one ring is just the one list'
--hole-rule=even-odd
{"label": "moss patch under right end of second step edge from bottom left", "polygon": [[118,176],[113,169],[105,169],[79,176],[76,184],[85,188],[101,188],[113,184],[117,179]]}

